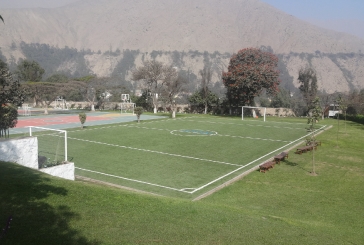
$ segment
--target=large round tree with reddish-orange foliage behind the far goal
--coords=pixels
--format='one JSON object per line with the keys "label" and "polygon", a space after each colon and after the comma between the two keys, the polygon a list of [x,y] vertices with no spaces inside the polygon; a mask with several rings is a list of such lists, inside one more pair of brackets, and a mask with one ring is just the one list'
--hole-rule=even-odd
{"label": "large round tree with reddish-orange foliage behind the far goal", "polygon": [[278,91],[278,58],[272,53],[246,48],[230,58],[222,79],[230,106],[254,105],[254,97],[265,89],[268,95]]}

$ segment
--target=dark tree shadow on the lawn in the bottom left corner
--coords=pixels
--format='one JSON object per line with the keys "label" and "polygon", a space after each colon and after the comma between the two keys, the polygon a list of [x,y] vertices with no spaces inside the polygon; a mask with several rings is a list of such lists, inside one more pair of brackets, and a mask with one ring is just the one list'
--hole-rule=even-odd
{"label": "dark tree shadow on the lawn in the bottom left corner", "polygon": [[66,204],[47,203],[49,197],[66,196],[68,191],[40,172],[0,162],[0,190],[0,229],[12,217],[0,244],[100,244],[70,227],[79,215]]}

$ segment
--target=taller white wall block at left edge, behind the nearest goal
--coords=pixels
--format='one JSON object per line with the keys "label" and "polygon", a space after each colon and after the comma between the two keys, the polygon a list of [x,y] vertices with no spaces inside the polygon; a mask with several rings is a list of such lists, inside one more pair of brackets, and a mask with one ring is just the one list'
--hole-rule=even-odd
{"label": "taller white wall block at left edge, behind the nearest goal", "polygon": [[1,139],[0,160],[38,169],[38,139],[36,137]]}

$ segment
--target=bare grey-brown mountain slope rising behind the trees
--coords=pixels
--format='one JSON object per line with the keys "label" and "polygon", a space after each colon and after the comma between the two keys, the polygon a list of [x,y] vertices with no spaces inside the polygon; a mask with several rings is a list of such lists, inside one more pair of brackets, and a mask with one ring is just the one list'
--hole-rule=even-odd
{"label": "bare grey-brown mountain slope rising behind the trees", "polygon": [[[317,27],[259,0],[83,0],[56,9],[9,9],[1,14],[6,20],[1,52],[15,61],[29,58],[21,43],[89,50],[86,66],[106,76],[124,59],[125,50],[138,52],[132,69],[152,58],[153,51],[164,52],[157,58],[168,62],[174,58],[166,52],[206,51],[220,57],[264,46],[281,57],[286,84],[297,87],[299,68],[313,65],[322,90],[364,88],[363,39]],[[105,53],[114,50],[121,52],[112,57]],[[228,64],[225,56],[217,57],[221,69]],[[204,59],[196,63],[196,57],[183,57],[180,68],[198,74]],[[72,70],[71,66],[65,60],[55,70]],[[221,69],[216,70],[216,80]]]}

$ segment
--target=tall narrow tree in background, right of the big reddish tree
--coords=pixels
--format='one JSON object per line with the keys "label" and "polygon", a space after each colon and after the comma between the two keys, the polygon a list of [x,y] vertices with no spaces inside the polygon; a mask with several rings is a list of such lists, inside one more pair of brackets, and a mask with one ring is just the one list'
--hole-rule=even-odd
{"label": "tall narrow tree in background, right of the big reddish tree", "polygon": [[317,94],[318,87],[316,71],[311,67],[301,68],[298,72],[298,82],[300,83],[299,90],[306,103],[307,113]]}

